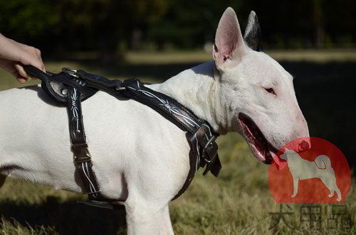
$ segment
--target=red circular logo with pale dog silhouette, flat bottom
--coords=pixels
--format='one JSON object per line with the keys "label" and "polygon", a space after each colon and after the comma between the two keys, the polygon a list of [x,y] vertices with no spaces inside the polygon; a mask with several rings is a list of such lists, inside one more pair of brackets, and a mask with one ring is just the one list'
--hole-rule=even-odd
{"label": "red circular logo with pale dog silhouette, flat bottom", "polygon": [[342,152],[315,137],[287,143],[273,157],[268,172],[271,194],[279,203],[344,202],[350,182],[350,167]]}

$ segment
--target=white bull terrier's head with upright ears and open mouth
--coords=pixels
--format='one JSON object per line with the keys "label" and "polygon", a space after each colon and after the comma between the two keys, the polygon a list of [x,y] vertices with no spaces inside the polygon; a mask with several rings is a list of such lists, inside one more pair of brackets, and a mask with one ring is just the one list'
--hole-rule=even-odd
{"label": "white bull terrier's head with upright ears and open mouth", "polygon": [[[256,14],[248,17],[244,36],[233,9],[224,12],[216,30],[213,57],[219,80],[221,126],[241,133],[253,154],[271,163],[279,148],[309,136],[298,106],[293,77],[263,53]],[[303,141],[300,149],[309,148]]]}

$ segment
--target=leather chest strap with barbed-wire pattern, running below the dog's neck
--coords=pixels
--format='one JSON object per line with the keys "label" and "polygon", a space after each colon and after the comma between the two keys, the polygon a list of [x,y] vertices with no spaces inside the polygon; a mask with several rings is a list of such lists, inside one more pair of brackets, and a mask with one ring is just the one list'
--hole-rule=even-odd
{"label": "leather chest strap with barbed-wire pattern, running below the dog's neck", "polygon": [[125,80],[122,86],[126,88],[122,92],[125,97],[150,106],[180,129],[187,131],[186,137],[190,146],[190,170],[182,189],[174,196],[173,200],[187,190],[200,167],[206,165],[203,175],[206,175],[209,171],[216,177],[219,175],[221,163],[217,154],[218,146],[215,142],[219,134],[214,133],[206,121],[198,119],[192,111],[179,104],[172,97],[145,87],[140,80]]}

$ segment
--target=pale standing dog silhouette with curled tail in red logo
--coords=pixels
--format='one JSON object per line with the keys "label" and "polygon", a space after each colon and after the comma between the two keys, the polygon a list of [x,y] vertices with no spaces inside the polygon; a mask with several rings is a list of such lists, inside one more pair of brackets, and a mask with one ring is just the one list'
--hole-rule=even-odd
{"label": "pale standing dog silhouette with curled tail in red logo", "polygon": [[291,197],[295,197],[298,193],[299,180],[319,178],[330,190],[329,197],[333,197],[336,192],[337,202],[340,202],[341,192],[336,185],[335,171],[331,167],[330,158],[327,155],[318,155],[315,161],[310,161],[286,148],[281,158],[287,161],[289,171],[293,176],[293,195]]}

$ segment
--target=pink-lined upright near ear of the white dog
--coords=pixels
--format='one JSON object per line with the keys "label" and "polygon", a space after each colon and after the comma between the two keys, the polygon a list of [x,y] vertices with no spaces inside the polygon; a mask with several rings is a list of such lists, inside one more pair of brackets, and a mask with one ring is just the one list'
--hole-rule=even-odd
{"label": "pink-lined upright near ear of the white dog", "polygon": [[235,11],[227,8],[216,29],[213,57],[218,70],[236,65],[246,50]]}

